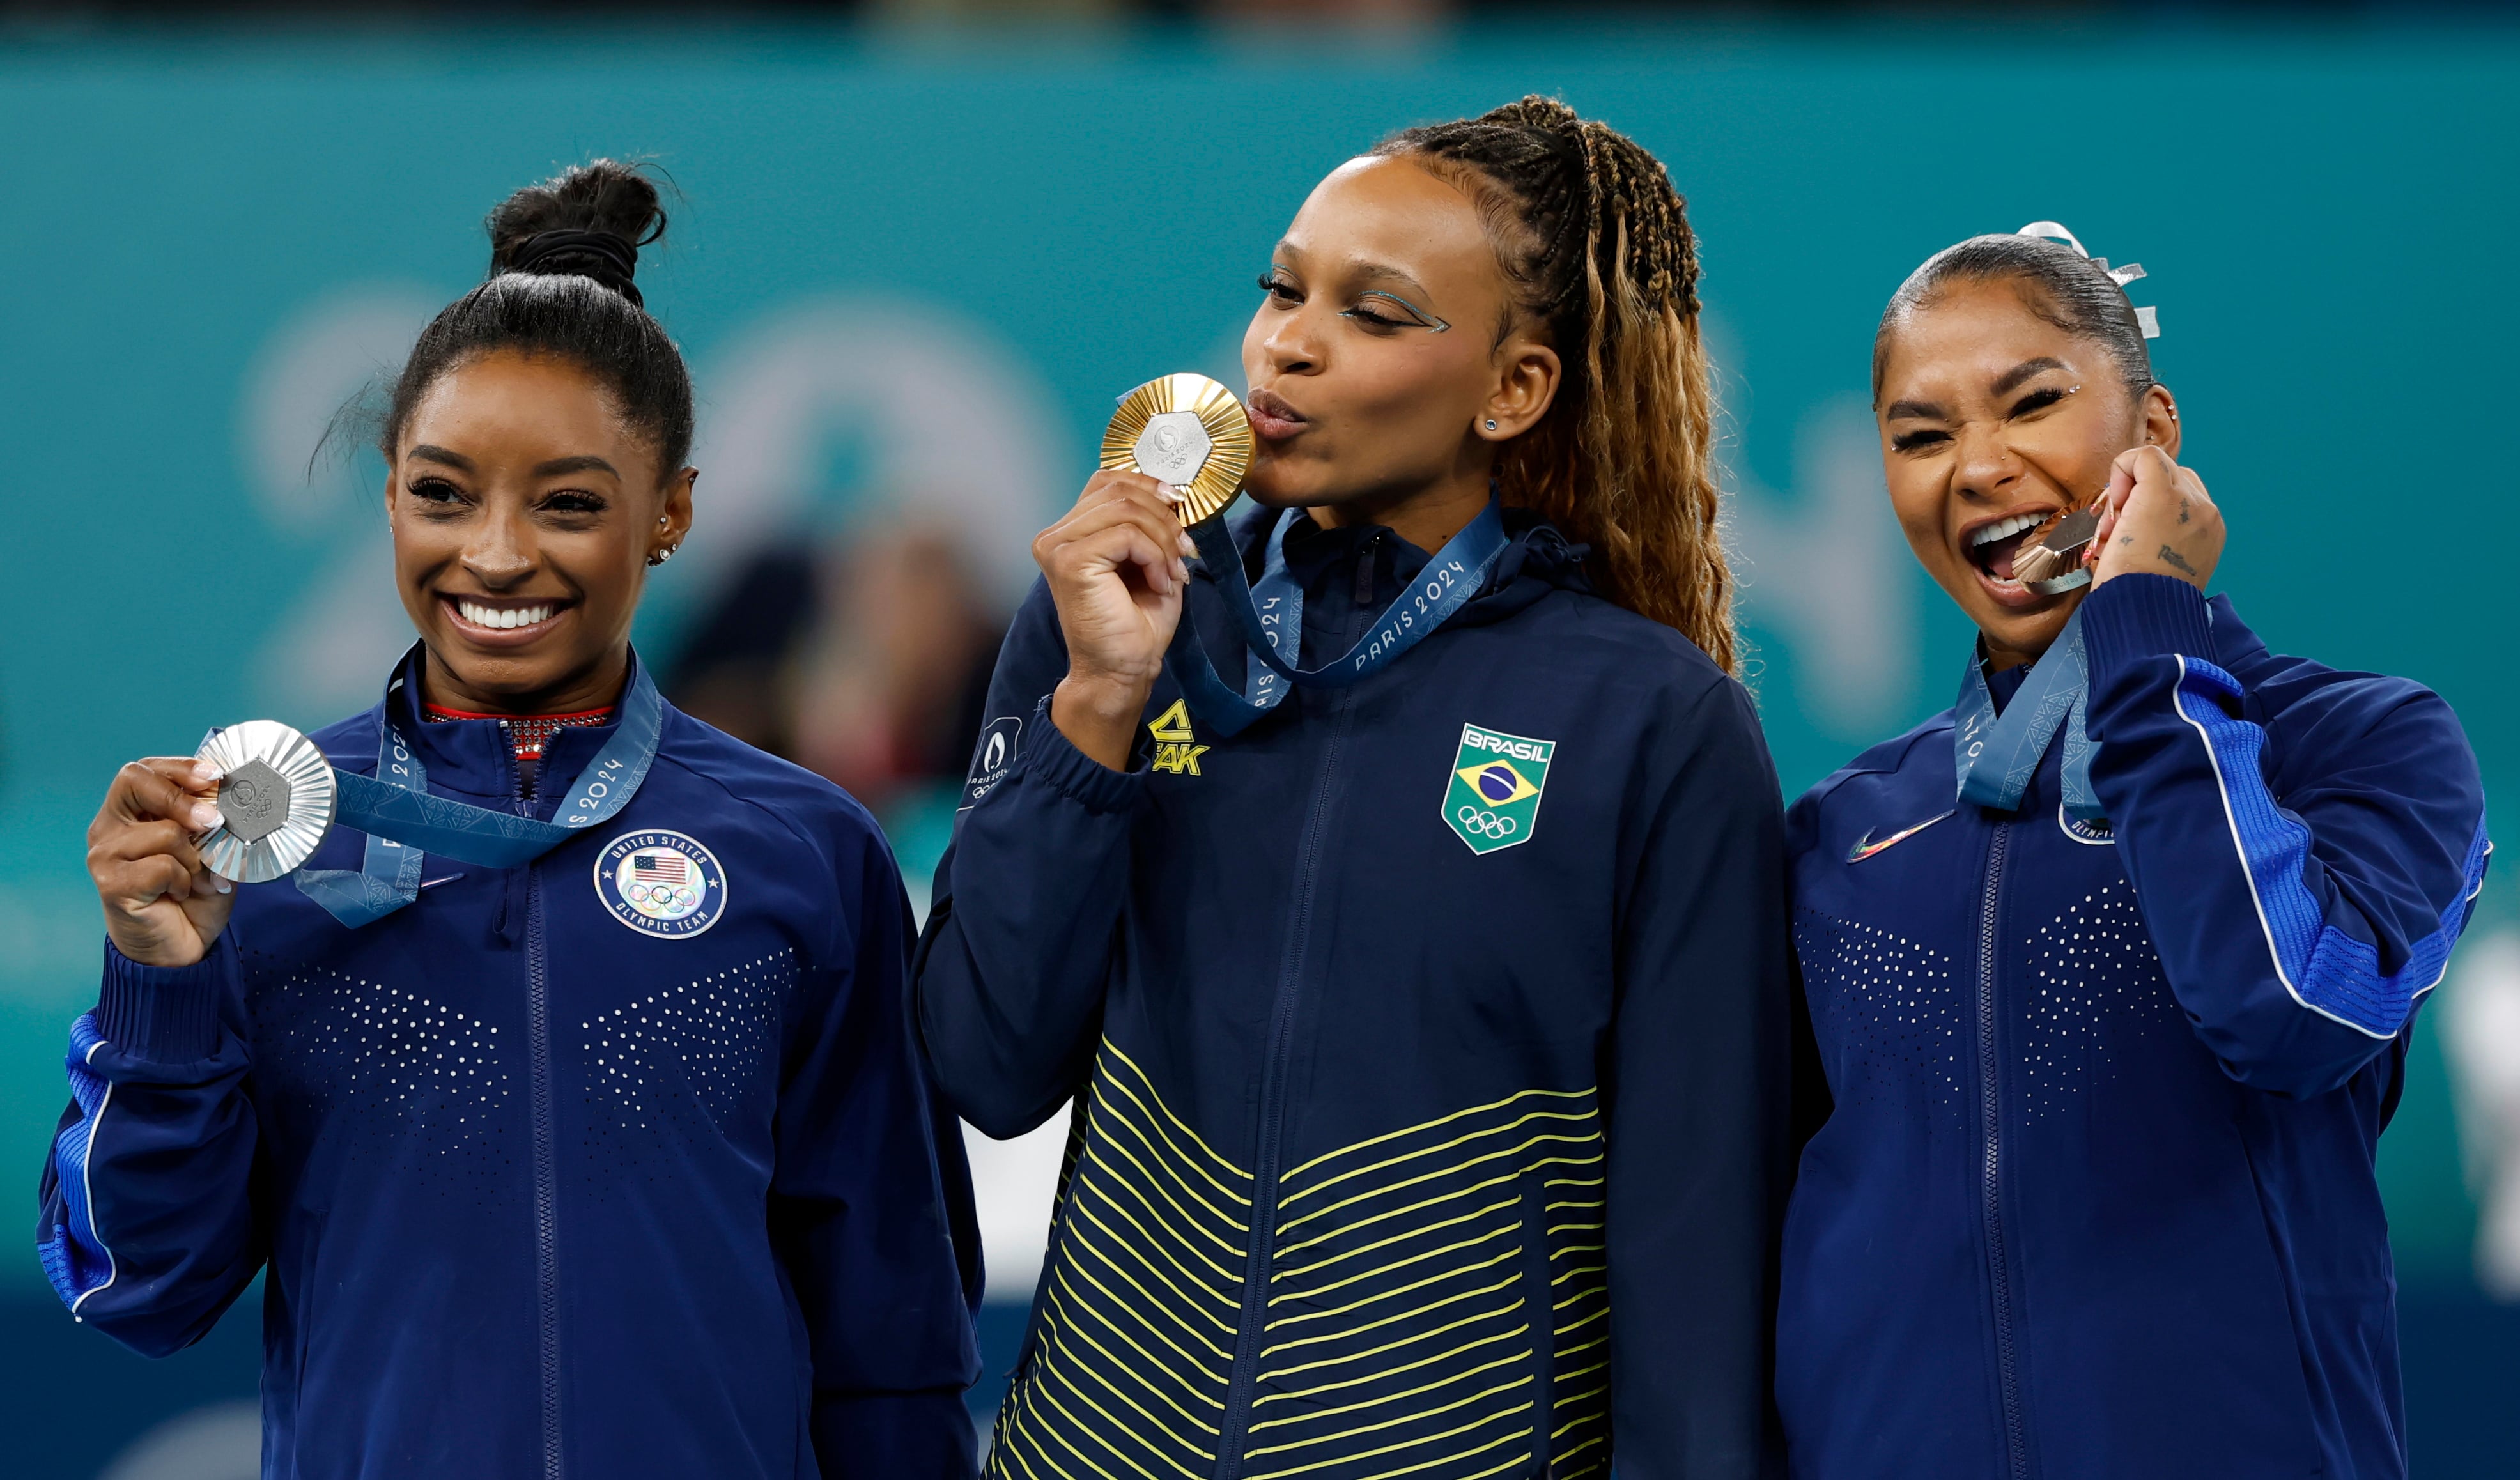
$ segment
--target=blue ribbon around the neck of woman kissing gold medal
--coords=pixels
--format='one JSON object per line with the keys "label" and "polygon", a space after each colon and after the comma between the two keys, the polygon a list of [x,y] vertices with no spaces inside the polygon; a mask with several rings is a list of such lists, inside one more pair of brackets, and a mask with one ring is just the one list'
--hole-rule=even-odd
{"label": "blue ribbon around the neck of woman kissing gold medal", "polygon": [[1283,512],[1270,529],[1257,587],[1242,575],[1242,550],[1235,547],[1222,514],[1210,514],[1189,527],[1200,560],[1207,562],[1225,595],[1225,610],[1242,628],[1242,645],[1257,658],[1257,663],[1247,663],[1242,693],[1227,688],[1217,678],[1215,663],[1207,661],[1207,648],[1200,643],[1184,605],[1164,666],[1172,668],[1189,708],[1217,734],[1240,734],[1278,708],[1298,686],[1346,688],[1381,673],[1469,605],[1469,598],[1487,587],[1489,572],[1512,545],[1504,532],[1504,509],[1489,497],[1479,517],[1434,552],[1409,590],[1373,618],[1373,628],[1353,648],[1320,668],[1295,668],[1303,650],[1303,587],[1285,570],[1285,535],[1300,514],[1300,509]]}

